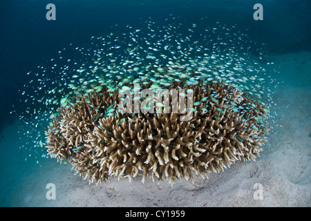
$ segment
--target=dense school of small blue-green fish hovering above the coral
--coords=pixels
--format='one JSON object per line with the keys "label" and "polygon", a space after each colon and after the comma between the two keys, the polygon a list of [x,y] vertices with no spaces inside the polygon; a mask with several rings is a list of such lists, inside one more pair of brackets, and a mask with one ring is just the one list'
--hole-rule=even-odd
{"label": "dense school of small blue-green fish hovering above the coral", "polygon": [[[115,25],[109,35],[91,37],[84,46],[70,44],[47,64],[27,73],[29,81],[20,90],[24,111],[19,115],[23,121],[19,133],[28,139],[20,148],[35,153],[25,160],[34,155],[47,157],[44,126],[57,116],[57,108],[74,105],[70,97],[82,91],[100,91],[104,85],[112,93],[140,89],[123,86],[129,82],[142,85],[153,81],[151,88],[157,89],[181,79],[186,79],[186,84],[222,81],[263,104],[274,105],[273,88],[278,83],[261,66],[264,45],[249,40],[236,26],[216,22],[209,27],[202,21],[183,24],[170,15],[161,23],[149,19],[138,28],[124,28]],[[217,97],[212,100],[217,102]],[[243,111],[245,107],[232,104],[232,108]],[[274,113],[268,115],[274,122]]]}

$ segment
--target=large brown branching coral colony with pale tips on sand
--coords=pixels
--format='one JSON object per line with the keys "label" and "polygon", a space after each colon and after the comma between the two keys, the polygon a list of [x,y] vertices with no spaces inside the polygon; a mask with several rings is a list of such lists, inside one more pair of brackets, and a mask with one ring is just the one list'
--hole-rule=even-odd
{"label": "large brown branching coral colony with pale tips on sand", "polygon": [[[133,84],[126,84],[133,88]],[[124,85],[123,85],[124,88]],[[152,82],[140,89],[152,88]],[[180,102],[187,106],[187,95],[176,100],[164,96],[169,104],[156,113],[126,113],[118,104],[120,90],[73,97],[59,108],[59,115],[46,131],[47,152],[51,157],[72,164],[73,170],[90,182],[106,182],[110,176],[133,179],[142,175],[152,180],[191,180],[192,173],[223,171],[238,162],[254,160],[261,153],[267,127],[267,107],[240,90],[220,82],[185,84],[178,81],[164,87],[183,88],[193,93],[193,116],[182,121],[173,111]],[[153,88],[154,89],[154,88]],[[162,95],[156,95],[162,96]],[[140,107],[157,107],[161,97],[139,97]],[[159,107],[159,105],[158,105]]]}

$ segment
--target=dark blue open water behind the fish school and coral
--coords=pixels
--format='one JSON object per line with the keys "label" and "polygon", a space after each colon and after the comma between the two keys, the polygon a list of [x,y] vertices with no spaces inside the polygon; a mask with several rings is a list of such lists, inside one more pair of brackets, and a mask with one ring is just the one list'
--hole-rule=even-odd
{"label": "dark blue open water behind the fish school and coral", "polygon": [[[56,6],[56,21],[46,20],[46,5]],[[263,5],[263,21],[254,21],[253,6]],[[311,50],[311,1],[27,1],[0,3],[0,131],[16,115],[26,73],[73,43],[82,46],[92,36],[111,32],[116,23],[139,27],[151,17],[159,24],[172,14],[183,23],[220,21],[248,28],[245,34],[264,42],[273,53]],[[150,19],[148,19],[150,20]],[[208,24],[207,24],[208,25]],[[121,27],[121,26],[120,26]],[[19,110],[16,110],[19,113]]]}

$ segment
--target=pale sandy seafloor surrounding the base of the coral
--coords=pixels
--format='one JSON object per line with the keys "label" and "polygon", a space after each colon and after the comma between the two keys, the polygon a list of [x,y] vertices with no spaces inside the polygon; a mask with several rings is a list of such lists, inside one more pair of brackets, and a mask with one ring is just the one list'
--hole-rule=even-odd
{"label": "pale sandy seafloor surrounding the base of the coral", "polygon": [[[26,140],[16,138],[23,124],[17,121],[0,140],[1,206],[311,206],[311,52],[270,57],[283,81],[273,97],[281,126],[256,162],[232,165],[195,184],[142,184],[138,177],[89,185],[70,165],[28,157],[19,148]],[[56,200],[46,199],[48,183],[55,184]],[[254,199],[256,183],[263,186],[262,200]]]}

